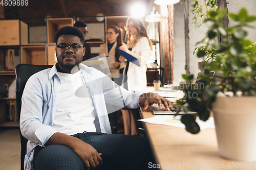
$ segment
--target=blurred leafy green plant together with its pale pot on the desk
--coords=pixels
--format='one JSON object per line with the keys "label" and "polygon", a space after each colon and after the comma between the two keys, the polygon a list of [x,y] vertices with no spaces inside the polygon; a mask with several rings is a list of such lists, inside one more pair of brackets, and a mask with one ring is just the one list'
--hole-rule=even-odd
{"label": "blurred leafy green plant together with its pale pot on the desk", "polygon": [[[197,116],[206,121],[212,111],[221,156],[256,161],[256,45],[246,39],[244,29],[256,17],[241,9],[238,14],[229,13],[229,19],[237,25],[223,28],[221,21],[225,14],[225,9],[208,12],[206,45],[199,48],[197,55],[204,57],[214,51],[215,61],[205,62],[205,75],[200,76],[200,84],[180,86],[186,94],[194,95],[185,95],[177,104],[197,112],[181,117],[186,130],[193,134],[200,131]],[[218,34],[228,44],[218,43]],[[213,79],[209,77],[210,71],[215,71]],[[187,83],[194,79],[194,75],[182,77]]]}

